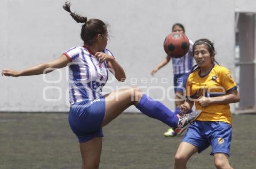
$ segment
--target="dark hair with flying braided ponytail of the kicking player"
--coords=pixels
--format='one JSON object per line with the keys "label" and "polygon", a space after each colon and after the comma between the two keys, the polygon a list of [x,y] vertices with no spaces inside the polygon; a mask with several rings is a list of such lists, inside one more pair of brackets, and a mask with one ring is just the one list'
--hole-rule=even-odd
{"label": "dark hair with flying braided ponytail of the kicking player", "polygon": [[92,46],[95,42],[95,38],[98,34],[106,34],[107,33],[107,26],[106,24],[101,21],[100,19],[89,19],[87,17],[83,17],[77,15],[75,12],[70,10],[70,2],[65,2],[63,5],[63,9],[70,13],[72,18],[78,23],[84,23],[81,29],[81,39],[84,42],[84,45]]}

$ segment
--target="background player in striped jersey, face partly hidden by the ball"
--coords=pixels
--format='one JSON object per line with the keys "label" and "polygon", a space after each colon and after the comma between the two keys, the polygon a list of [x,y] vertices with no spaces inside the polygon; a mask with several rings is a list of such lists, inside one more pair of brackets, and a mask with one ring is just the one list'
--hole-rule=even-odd
{"label": "background player in striped jersey, face partly hidden by the ball", "polygon": [[[182,34],[185,34],[185,28],[182,24],[176,23],[172,27],[172,32],[179,32]],[[154,74],[164,67],[167,63],[169,63],[170,59],[172,59],[172,65],[173,65],[173,84],[175,86],[174,93],[175,93],[175,114],[180,113],[180,105],[184,103],[184,100],[180,96],[184,95],[184,90],[186,87],[186,82],[189,77],[189,74],[191,73],[192,67],[193,67],[193,55],[192,55],[192,46],[193,42],[192,40],[189,40],[190,46],[189,51],[186,53],[186,55],[180,57],[180,58],[171,58],[170,56],[166,56],[164,60],[155,67],[151,71],[151,75],[154,76]],[[170,137],[175,136],[177,133],[173,131],[173,128],[169,128],[167,132],[164,132],[164,136]]]}

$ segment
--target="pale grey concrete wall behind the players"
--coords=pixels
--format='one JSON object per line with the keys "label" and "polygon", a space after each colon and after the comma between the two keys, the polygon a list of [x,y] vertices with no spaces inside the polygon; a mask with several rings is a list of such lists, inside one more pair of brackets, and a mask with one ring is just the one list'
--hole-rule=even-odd
{"label": "pale grey concrete wall behind the players", "polygon": [[[64,0],[2,0],[1,2],[0,69],[21,70],[51,61],[65,50],[82,45],[81,25],[62,9]],[[73,11],[88,18],[102,19],[111,25],[112,37],[107,47],[123,66],[127,82],[120,84],[114,81],[108,84],[107,88],[159,86],[165,92],[173,85],[171,63],[155,75],[157,83],[155,81],[151,83],[150,70],[165,57],[163,40],[171,32],[171,26],[175,22],[183,23],[187,36],[193,41],[205,37],[213,40],[217,49],[217,61],[233,72],[234,13],[237,6],[243,10],[252,8],[242,0],[76,0],[71,2]],[[255,4],[253,0],[250,2]],[[61,72],[62,80],[55,84],[46,83],[42,75],[1,77],[0,111],[68,111],[66,69],[62,69]],[[59,73],[57,71],[50,73],[46,78],[58,80]],[[133,78],[137,79],[136,84]],[[142,78],[146,78],[148,83],[142,83]],[[164,83],[162,83],[163,78],[167,78],[164,79]],[[43,90],[48,86],[61,88],[60,101],[45,101]],[[148,94],[160,100],[163,97],[161,89],[151,89]],[[173,90],[170,90],[169,95],[173,97],[173,94]],[[57,99],[59,92],[56,89],[48,89],[46,97]],[[174,102],[166,97],[162,101],[167,107],[174,109]],[[132,107],[126,111],[136,111],[136,108]]]}

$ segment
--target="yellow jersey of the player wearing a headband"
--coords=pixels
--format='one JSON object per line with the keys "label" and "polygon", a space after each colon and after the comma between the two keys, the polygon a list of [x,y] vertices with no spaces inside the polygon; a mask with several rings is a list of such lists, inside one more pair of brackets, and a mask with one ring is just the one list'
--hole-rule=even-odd
{"label": "yellow jersey of the player wearing a headband", "polygon": [[[226,67],[214,65],[204,76],[200,76],[200,71],[198,69],[189,75],[186,84],[188,99],[197,99],[200,96],[223,96],[237,89],[236,82]],[[198,121],[222,121],[232,124],[229,104],[210,104],[203,108],[195,102],[195,108],[202,111]]]}

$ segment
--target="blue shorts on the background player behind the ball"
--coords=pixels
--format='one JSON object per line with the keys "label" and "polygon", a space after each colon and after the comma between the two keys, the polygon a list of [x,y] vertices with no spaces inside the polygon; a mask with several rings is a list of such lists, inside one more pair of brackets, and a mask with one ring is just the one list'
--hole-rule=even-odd
{"label": "blue shorts on the background player behind the ball", "polygon": [[173,78],[174,92],[181,91],[185,93],[186,83],[190,73],[176,74]]}

